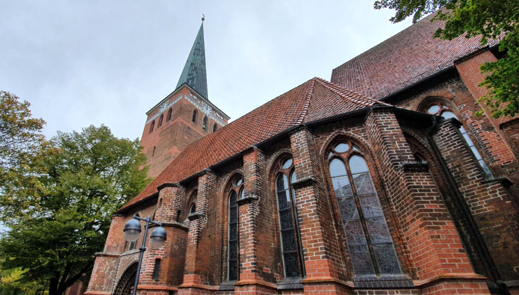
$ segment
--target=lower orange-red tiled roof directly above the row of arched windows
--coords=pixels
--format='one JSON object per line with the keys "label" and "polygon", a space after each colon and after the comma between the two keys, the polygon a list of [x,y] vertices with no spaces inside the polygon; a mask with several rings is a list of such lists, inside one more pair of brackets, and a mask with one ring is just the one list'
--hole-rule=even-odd
{"label": "lower orange-red tiled roof directly above the row of arched windows", "polygon": [[210,135],[189,144],[138,196],[119,211],[299,124],[387,103],[312,78]]}

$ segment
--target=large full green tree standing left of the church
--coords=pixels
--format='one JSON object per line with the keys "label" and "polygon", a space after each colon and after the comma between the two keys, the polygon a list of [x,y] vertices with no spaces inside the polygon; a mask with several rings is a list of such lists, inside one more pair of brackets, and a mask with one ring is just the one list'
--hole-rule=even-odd
{"label": "large full green tree standing left of the church", "polygon": [[[88,280],[93,254],[103,250],[112,214],[149,183],[138,140],[118,139],[106,126],[62,133],[38,162],[43,188],[30,199],[31,214],[4,202],[10,230],[0,240],[4,269],[21,267],[23,277],[47,281],[61,295],[78,279]],[[21,194],[26,191],[19,190]]]}

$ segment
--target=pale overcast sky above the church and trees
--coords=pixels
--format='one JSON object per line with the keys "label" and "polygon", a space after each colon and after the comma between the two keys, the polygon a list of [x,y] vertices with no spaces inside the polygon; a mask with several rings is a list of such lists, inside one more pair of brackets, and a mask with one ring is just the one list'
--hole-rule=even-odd
{"label": "pale overcast sky above the church and trees", "polygon": [[209,99],[232,120],[411,24],[373,2],[2,0],[0,90],[31,102],[47,137],[105,124],[140,138],[205,14]]}

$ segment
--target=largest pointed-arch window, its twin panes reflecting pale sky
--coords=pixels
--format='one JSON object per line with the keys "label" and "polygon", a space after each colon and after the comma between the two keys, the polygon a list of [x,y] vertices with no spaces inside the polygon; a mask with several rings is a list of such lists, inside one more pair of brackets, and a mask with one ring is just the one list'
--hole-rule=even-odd
{"label": "largest pointed-arch window, its twin panes reflecting pale sky", "polygon": [[366,160],[351,142],[336,143],[328,159],[355,274],[400,274],[397,253]]}

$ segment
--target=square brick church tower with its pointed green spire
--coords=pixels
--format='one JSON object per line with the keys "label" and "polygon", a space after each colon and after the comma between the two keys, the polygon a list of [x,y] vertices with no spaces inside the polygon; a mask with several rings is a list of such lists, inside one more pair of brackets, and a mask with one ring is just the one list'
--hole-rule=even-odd
{"label": "square brick church tower with its pointed green spire", "polygon": [[208,99],[203,20],[176,89],[146,112],[141,145],[149,177],[156,177],[189,143],[227,125],[229,116]]}

